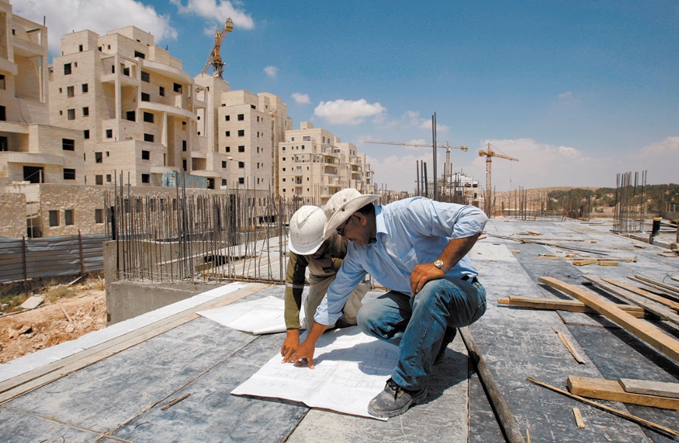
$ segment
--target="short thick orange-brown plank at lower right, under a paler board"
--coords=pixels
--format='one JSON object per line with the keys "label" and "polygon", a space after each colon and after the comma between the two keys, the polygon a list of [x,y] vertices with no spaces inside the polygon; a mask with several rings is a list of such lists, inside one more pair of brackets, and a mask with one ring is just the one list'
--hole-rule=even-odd
{"label": "short thick orange-brown plank at lower right, under a paler board", "polygon": [[584,397],[620,401],[622,403],[631,403],[632,405],[653,406],[653,408],[679,410],[678,398],[625,392],[625,389],[616,380],[568,376],[566,385],[568,385],[568,390],[572,394]]}

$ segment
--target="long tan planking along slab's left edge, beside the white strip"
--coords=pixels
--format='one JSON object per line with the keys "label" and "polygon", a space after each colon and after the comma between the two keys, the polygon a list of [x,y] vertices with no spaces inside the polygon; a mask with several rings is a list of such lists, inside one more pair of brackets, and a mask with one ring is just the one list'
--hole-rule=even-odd
{"label": "long tan planking along slab's left edge, beside the white strip", "polygon": [[127,332],[127,334],[121,335],[120,337],[115,337],[114,339],[92,346],[79,353],[63,357],[55,362],[45,364],[42,367],[35,368],[32,371],[22,373],[19,376],[0,382],[0,405],[40,386],[47,385],[49,382],[57,380],[58,378],[67,376],[73,371],[87,367],[99,360],[115,355],[120,351],[125,351],[125,349],[131,348],[147,339],[161,335],[163,332],[177,328],[179,325],[197,319],[199,316],[198,314],[195,314],[195,312],[228,305],[235,300],[249,296],[251,293],[257,292],[268,286],[270,285],[250,284],[243,289],[227,293],[225,296],[201,303],[200,305],[186,309],[186,311],[169,316],[166,319]]}

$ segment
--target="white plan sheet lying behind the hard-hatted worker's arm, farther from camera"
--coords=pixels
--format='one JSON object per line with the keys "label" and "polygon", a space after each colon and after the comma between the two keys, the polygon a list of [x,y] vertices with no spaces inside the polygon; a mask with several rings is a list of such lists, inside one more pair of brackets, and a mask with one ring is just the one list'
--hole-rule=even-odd
{"label": "white plan sheet lying behind the hard-hatted worker's arm, farther from camera", "polygon": [[[285,301],[273,296],[199,311],[198,314],[227,328],[257,335],[285,332]],[[299,315],[304,328],[304,308]]]}

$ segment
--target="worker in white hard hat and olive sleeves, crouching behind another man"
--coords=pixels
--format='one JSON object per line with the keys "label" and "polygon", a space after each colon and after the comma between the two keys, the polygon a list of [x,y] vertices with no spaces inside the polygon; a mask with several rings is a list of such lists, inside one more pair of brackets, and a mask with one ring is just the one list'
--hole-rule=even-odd
{"label": "worker in white hard hat and olive sleeves, crouching behind another man", "polygon": [[[290,357],[299,346],[299,312],[302,305],[305,273],[309,268],[309,295],[304,303],[305,323],[313,323],[314,314],[328,291],[328,286],[340,271],[346,255],[342,237],[332,232],[324,238],[326,214],[315,206],[303,206],[290,219],[288,248],[290,257],[285,275],[285,328],[287,335],[280,348],[283,357]],[[344,318],[333,322],[338,327],[356,325],[356,314],[367,292],[367,284],[359,284],[340,309]]]}

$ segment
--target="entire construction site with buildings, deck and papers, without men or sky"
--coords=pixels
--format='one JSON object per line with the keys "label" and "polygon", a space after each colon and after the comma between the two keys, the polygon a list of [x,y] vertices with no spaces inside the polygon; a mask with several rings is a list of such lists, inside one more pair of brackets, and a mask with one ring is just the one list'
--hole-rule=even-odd
{"label": "entire construction site with buildings, deck and papers, without men or sky", "polygon": [[[497,192],[522,159],[484,140],[485,180],[456,172],[469,148],[434,113],[431,143],[361,142],[431,150],[392,191],[281,97],[230,88],[230,18],[196,76],[135,26],[73,31],[47,63],[44,23],[0,0],[0,24],[0,442],[679,441],[676,185]],[[397,346],[338,326],[315,368],[281,362],[291,218],[346,188],[488,217],[468,252],[486,312],[390,419],[367,402]],[[81,291],[38,293],[56,280]]]}

